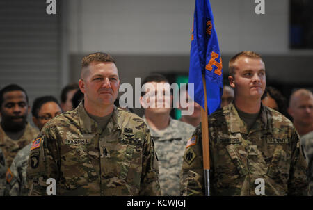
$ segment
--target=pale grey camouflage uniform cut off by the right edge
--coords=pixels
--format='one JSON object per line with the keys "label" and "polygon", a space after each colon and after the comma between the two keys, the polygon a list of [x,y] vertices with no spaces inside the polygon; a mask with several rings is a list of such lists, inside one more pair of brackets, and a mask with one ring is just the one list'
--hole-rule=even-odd
{"label": "pale grey camouflage uniform cut off by the right edge", "polygon": [[301,144],[303,145],[309,169],[307,177],[309,179],[310,195],[313,196],[313,131],[301,136]]}

